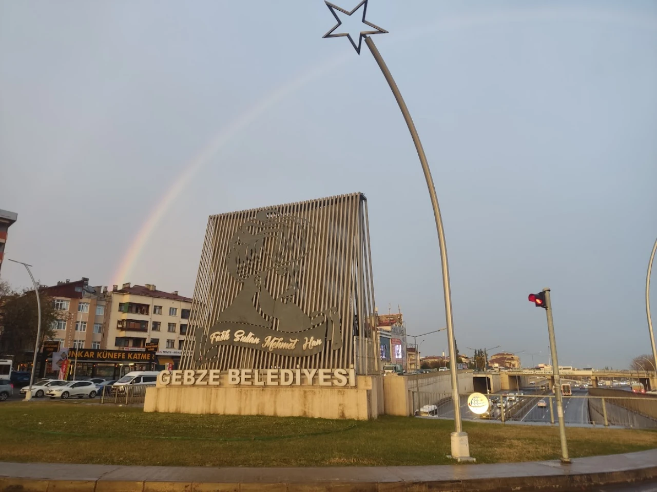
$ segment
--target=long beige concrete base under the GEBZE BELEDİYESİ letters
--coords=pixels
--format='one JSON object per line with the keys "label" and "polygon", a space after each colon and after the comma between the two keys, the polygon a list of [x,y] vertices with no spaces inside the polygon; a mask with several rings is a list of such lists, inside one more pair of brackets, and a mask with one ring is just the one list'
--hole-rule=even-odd
{"label": "long beige concrete base under the GEBZE BELED\u0130YES\u0130 letters", "polygon": [[148,388],[145,412],[271,415],[321,419],[376,419],[383,412],[383,385],[378,376],[358,376],[356,386],[254,387],[156,386]]}

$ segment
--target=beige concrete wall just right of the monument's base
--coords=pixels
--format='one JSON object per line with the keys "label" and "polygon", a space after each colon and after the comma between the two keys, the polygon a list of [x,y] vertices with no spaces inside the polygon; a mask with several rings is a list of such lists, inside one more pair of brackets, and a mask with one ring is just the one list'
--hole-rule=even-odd
{"label": "beige concrete wall just right of the monument's base", "polygon": [[[412,392],[445,394],[451,396],[449,371],[383,377],[384,410],[386,415],[413,415]],[[474,392],[472,371],[459,371],[459,393]]]}

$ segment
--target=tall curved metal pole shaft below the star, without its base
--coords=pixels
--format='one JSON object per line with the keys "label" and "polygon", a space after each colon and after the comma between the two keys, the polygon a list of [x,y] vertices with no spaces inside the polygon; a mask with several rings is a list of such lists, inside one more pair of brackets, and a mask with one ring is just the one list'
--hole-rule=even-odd
{"label": "tall curved metal pole shaft below the star, without its base", "polygon": [[434,186],[434,180],[431,177],[431,171],[429,169],[429,163],[426,160],[426,155],[424,155],[424,149],[422,148],[422,142],[420,142],[420,137],[417,134],[415,129],[415,123],[411,119],[411,113],[409,113],[406,103],[401,97],[401,92],[392,78],[386,62],[384,62],[380,52],[376,49],[374,41],[369,36],[365,36],[365,43],[367,47],[372,52],[374,60],[378,64],[378,67],[383,72],[388,85],[392,93],[395,95],[397,104],[399,104],[399,109],[406,120],[406,125],[409,127],[411,132],[411,137],[413,138],[413,143],[415,144],[415,150],[417,150],[417,155],[420,157],[420,164],[422,165],[422,171],[424,171],[424,178],[426,179],[426,186],[429,188],[429,197],[431,198],[431,205],[434,209],[434,217],[436,218],[436,230],[438,230],[438,243],[440,245],[440,264],[442,266],[443,274],[443,293],[445,295],[445,323],[447,324],[447,347],[449,348],[449,360],[452,361],[449,364],[449,372],[451,374],[451,387],[452,387],[452,401],[454,403],[454,430],[458,433],[463,433],[463,424],[461,422],[461,401],[459,400],[459,378],[457,375],[457,359],[459,354],[456,354],[456,344],[454,342],[454,325],[452,319],[452,308],[451,308],[451,289],[449,287],[449,268],[447,266],[447,247],[445,246],[445,230],[443,229],[443,219],[440,215],[440,207],[438,207],[438,197],[436,196],[436,187]]}

